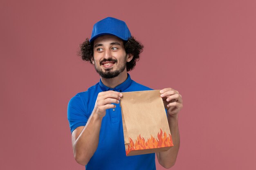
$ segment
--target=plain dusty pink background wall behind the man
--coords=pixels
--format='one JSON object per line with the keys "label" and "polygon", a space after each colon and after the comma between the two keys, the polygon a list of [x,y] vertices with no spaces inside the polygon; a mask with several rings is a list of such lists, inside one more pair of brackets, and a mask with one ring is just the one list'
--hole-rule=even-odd
{"label": "plain dusty pink background wall behind the man", "polygon": [[84,169],[66,109],[99,81],[76,51],[107,16],[145,46],[132,79],[183,97],[172,169],[255,170],[255,0],[1,0],[0,169]]}

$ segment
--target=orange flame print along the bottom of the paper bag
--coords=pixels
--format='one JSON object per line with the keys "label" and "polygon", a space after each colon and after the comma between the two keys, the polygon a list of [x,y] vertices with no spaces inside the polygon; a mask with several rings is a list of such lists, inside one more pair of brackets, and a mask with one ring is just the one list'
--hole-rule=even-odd
{"label": "orange flame print along the bottom of the paper bag", "polygon": [[135,144],[130,138],[130,145],[128,145],[128,148],[126,149],[126,155],[128,155],[132,150],[144,150],[173,146],[171,134],[167,136],[166,132],[164,132],[163,135],[162,129],[160,129],[160,132],[157,134],[157,138],[158,139],[155,139],[155,137],[151,135],[150,139],[145,141],[144,137],[141,137],[141,135],[139,135],[137,137],[137,140],[135,140]]}

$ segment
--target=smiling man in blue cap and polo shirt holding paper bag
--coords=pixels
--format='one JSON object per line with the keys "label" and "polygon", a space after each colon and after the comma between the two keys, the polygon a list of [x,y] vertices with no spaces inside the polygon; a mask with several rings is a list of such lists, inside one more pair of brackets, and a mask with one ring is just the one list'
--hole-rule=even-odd
{"label": "smiling man in blue cap and polo shirt holding paper bag", "polygon": [[[134,82],[127,73],[134,68],[142,49],[126,23],[110,17],[94,24],[91,39],[81,44],[82,59],[94,64],[101,77],[88,91],[75,95],[67,109],[74,157],[86,165],[86,170],[155,170],[155,153],[126,157],[119,106],[121,92],[151,90]],[[182,97],[172,88],[160,93],[174,146],[156,155],[162,166],[170,168],[180,144],[177,114],[183,106]]]}

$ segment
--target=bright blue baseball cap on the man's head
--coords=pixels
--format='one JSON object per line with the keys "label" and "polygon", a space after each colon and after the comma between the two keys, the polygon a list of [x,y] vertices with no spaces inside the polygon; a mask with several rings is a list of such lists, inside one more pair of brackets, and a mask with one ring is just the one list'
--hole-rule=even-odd
{"label": "bright blue baseball cap on the man's head", "polygon": [[131,33],[126,23],[112,17],[105,18],[94,24],[92,36],[89,41],[92,42],[101,35],[115,35],[125,41],[131,37]]}

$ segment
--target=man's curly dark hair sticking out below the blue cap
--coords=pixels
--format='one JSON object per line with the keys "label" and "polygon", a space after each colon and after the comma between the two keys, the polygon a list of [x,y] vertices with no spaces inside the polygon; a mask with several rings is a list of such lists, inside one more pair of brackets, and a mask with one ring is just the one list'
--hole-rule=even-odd
{"label": "man's curly dark hair sticking out below the blue cap", "polygon": [[[139,54],[143,51],[144,46],[135,40],[133,36],[131,36],[127,41],[124,41],[124,49],[127,54],[132,54],[133,58],[130,62],[126,62],[126,70],[131,71],[136,62],[139,61]],[[80,51],[78,55],[82,58],[82,60],[90,61],[92,63],[91,58],[93,57],[93,42],[89,42],[89,39],[80,44]]]}

